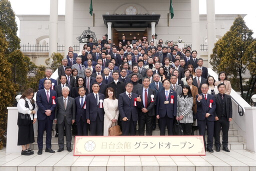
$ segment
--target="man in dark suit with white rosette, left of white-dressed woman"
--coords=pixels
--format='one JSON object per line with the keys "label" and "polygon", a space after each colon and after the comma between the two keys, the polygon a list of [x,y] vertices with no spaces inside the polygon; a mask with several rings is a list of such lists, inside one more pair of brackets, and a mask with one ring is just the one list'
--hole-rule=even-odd
{"label": "man in dark suit with white rosette, left of white-dressed woman", "polygon": [[103,135],[104,109],[103,100],[105,96],[99,91],[99,84],[92,84],[92,93],[86,97],[86,119],[90,124],[90,135]]}

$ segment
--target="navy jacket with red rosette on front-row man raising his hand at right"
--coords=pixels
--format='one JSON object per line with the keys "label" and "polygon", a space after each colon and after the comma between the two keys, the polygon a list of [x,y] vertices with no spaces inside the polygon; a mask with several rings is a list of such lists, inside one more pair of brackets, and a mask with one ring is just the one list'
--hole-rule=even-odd
{"label": "navy jacket with red rosette on front-row man raising his hand at right", "polygon": [[[202,93],[199,93],[199,95],[202,95],[202,99],[199,102],[197,100],[198,95],[196,95],[196,104],[197,104],[196,119],[204,120],[206,118],[209,121],[214,121],[215,120],[215,108],[216,108],[215,97],[211,94],[207,94],[207,100],[205,100]],[[209,107],[210,100],[213,100],[211,107]],[[210,115],[208,117],[205,117],[206,113],[210,113]]]}

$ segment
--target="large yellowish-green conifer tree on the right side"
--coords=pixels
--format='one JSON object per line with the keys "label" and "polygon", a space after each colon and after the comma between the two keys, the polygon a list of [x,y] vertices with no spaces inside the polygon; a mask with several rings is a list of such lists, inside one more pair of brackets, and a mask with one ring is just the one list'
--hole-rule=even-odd
{"label": "large yellowish-green conifer tree on the right side", "polygon": [[[255,85],[255,71],[253,71],[255,53],[253,54],[250,48],[256,43],[256,40],[252,34],[252,30],[246,26],[243,18],[239,15],[235,18],[229,31],[215,43],[212,49],[213,53],[210,55],[210,64],[214,70],[217,72],[225,71],[233,78],[238,77],[241,96],[246,101],[250,100],[251,90],[254,89]],[[247,70],[250,71],[251,77],[246,82],[247,93],[244,94],[243,74]]]}

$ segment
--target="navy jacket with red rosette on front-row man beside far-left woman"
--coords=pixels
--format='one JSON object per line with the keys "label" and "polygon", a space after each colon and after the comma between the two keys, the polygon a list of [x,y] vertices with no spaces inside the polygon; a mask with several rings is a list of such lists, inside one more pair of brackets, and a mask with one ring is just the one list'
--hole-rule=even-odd
{"label": "navy jacket with red rosette on front-row man beside far-left woman", "polygon": [[[46,93],[44,89],[40,89],[36,93],[36,104],[38,106],[37,110],[37,119],[38,120],[45,120],[47,115],[45,114],[45,110],[50,109],[51,114],[48,116],[50,120],[53,120],[55,117],[55,107],[57,104],[57,93],[54,90],[49,90],[49,102],[47,101]],[[52,104],[52,97],[55,97],[55,103]]]}

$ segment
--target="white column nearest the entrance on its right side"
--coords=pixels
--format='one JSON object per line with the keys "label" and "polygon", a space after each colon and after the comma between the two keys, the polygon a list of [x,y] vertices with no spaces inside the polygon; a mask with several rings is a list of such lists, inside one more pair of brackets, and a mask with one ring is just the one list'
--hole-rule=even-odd
{"label": "white column nearest the entrance on its right side", "polygon": [[200,57],[200,27],[199,27],[199,0],[191,0],[191,34],[192,50],[197,51]]}

